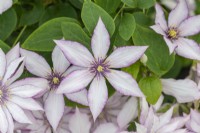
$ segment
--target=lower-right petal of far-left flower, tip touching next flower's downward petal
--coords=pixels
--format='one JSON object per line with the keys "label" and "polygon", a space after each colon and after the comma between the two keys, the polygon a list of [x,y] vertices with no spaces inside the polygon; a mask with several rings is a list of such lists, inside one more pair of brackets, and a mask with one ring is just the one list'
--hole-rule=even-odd
{"label": "lower-right petal of far-left flower, tip touching next flower's downward petal", "polygon": [[12,96],[10,99],[11,102],[19,105],[23,109],[27,110],[43,110],[41,105],[39,105],[35,100],[32,98],[22,98],[19,96]]}

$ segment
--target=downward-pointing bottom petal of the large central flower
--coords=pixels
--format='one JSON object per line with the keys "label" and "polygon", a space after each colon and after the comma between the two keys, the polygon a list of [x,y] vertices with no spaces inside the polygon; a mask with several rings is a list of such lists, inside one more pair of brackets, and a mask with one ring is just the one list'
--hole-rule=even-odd
{"label": "downward-pointing bottom petal of the large central flower", "polygon": [[88,92],[89,107],[94,121],[102,112],[107,100],[108,89],[105,78],[102,76],[96,76],[92,81]]}

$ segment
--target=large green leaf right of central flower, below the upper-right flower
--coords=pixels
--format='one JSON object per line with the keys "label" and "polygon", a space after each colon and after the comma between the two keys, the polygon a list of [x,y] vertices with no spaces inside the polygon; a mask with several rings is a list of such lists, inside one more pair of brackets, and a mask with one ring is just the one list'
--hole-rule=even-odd
{"label": "large green leaf right of central flower, below the upper-right flower", "polygon": [[137,25],[132,38],[135,45],[149,46],[145,54],[148,58],[147,67],[152,72],[161,76],[170,70],[175,56],[169,54],[169,49],[162,36],[153,30]]}

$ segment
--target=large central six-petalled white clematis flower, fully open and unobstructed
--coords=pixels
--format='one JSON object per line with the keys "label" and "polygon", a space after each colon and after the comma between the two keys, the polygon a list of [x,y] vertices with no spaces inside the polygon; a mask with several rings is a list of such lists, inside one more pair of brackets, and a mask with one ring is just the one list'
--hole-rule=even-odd
{"label": "large central six-petalled white clematis flower, fully open and unobstructed", "polygon": [[124,95],[144,96],[131,75],[113,68],[123,68],[133,64],[144,54],[147,46],[117,48],[106,57],[110,47],[110,36],[101,18],[94,29],[91,41],[94,57],[78,42],[56,40],[55,43],[73,65],[82,67],[82,70],[74,71],[63,79],[57,93],[80,91],[93,80],[89,87],[88,102],[94,120],[101,113],[108,99],[105,78]]}

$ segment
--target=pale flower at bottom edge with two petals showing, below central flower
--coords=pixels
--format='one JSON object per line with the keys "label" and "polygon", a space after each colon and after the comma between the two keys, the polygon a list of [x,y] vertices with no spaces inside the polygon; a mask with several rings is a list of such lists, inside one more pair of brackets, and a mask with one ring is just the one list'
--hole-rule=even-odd
{"label": "pale flower at bottom edge with two petals showing, below central flower", "polygon": [[137,117],[138,100],[131,97],[117,116],[117,124],[103,123],[93,133],[125,133],[128,124]]}

